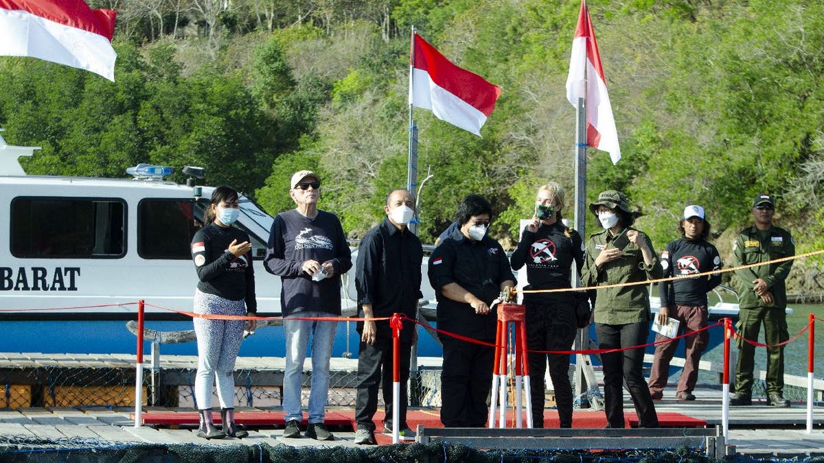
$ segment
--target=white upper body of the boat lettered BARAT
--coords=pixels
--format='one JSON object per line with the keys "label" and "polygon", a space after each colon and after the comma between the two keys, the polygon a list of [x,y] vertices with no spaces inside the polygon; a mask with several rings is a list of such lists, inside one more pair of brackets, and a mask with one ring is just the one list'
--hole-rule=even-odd
{"label": "white upper body of the boat lettered BARAT", "polygon": [[[163,180],[171,170],[158,166],[132,169],[133,180],[25,175],[17,157],[34,149],[0,138],[0,320],[127,319],[138,300],[154,318],[190,311],[190,241],[214,188]],[[237,226],[262,260],[273,219],[243,195],[240,208]],[[279,311],[279,279],[269,280],[259,305]]]}

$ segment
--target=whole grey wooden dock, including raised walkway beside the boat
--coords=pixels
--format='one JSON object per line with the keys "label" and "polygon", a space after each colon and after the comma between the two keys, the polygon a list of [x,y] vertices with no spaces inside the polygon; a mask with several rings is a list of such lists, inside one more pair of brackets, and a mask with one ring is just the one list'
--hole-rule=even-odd
{"label": "whole grey wooden dock, including raised walkway beside the boat", "polygon": [[[424,365],[439,366],[439,359],[419,358]],[[67,364],[83,368],[131,368],[133,358],[128,355],[105,356],[91,355],[54,355],[54,354],[0,354],[0,370],[21,367],[49,367]],[[335,369],[343,372],[351,371],[357,364],[354,359],[335,359]],[[161,367],[170,372],[180,372],[194,368],[196,358],[192,356],[178,357],[165,356],[161,359]],[[309,365],[307,364],[307,367]],[[255,369],[260,374],[274,374],[282,372],[283,358],[239,358],[238,368]],[[147,365],[148,368],[148,365]],[[34,378],[37,379],[37,378]],[[133,387],[133,384],[132,384]],[[670,386],[664,391],[664,399],[655,402],[658,412],[672,412],[685,414],[694,419],[704,420],[709,426],[721,423],[721,390],[720,386],[701,387],[694,391],[697,400],[691,402],[674,399],[675,387]],[[152,408],[148,408],[151,410]],[[278,407],[260,408],[260,411],[279,411]],[[240,411],[250,408],[238,407]],[[255,409],[251,409],[255,410]],[[329,413],[336,411],[351,412],[351,407],[345,409],[328,408]],[[633,410],[629,396],[625,397],[625,410]],[[422,409],[426,414],[438,415],[438,409]],[[16,440],[35,440],[62,442],[67,440],[85,439],[88,442],[119,443],[152,443],[178,444],[194,443],[205,444],[207,441],[194,435],[191,427],[133,427],[133,407],[106,408],[100,406],[77,407],[21,407],[0,409],[0,451],[4,447],[15,445]],[[555,414],[552,409],[547,414]],[[726,441],[728,453],[737,453],[752,457],[780,457],[794,456],[824,456],[824,407],[819,404],[814,414],[814,428],[812,433],[806,433],[806,407],[803,403],[794,402],[789,409],[775,409],[765,405],[763,401],[755,400],[749,407],[733,407],[730,409],[729,438]],[[575,423],[574,423],[575,425]],[[380,425],[378,426],[380,428]],[[316,442],[303,437],[300,439],[286,439],[281,437],[283,427],[278,425],[256,426],[250,429],[250,437],[242,440],[223,439],[208,441],[209,445],[246,445],[255,446],[267,443],[271,446],[287,445],[302,446],[344,446],[359,447],[353,443],[352,428],[338,427],[332,429],[335,433],[334,442]]]}

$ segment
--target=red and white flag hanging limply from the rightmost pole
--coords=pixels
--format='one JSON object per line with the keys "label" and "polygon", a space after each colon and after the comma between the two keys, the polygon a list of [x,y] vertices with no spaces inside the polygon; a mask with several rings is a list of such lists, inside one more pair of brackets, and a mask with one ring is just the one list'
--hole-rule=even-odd
{"label": "red and white flag hanging limply from the rightmost pole", "polygon": [[620,159],[616,120],[612,117],[610,96],[606,94],[601,56],[585,0],[581,0],[567,77],[567,100],[575,107],[578,107],[578,97],[584,96],[583,82],[586,82],[587,144],[609,152],[612,163],[616,164]]}

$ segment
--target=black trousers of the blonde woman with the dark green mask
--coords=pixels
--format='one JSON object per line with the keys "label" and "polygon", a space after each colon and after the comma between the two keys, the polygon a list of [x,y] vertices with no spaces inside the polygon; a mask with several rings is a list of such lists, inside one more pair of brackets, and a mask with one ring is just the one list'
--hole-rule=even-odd
{"label": "black trousers of the blonde woman with the dark green mask", "polygon": [[[552,303],[528,303],[527,348],[536,350],[570,350],[578,326],[572,297]],[[561,428],[572,428],[572,385],[569,383],[568,353],[529,353],[529,381],[532,400],[532,427],[544,427],[544,375],[547,358],[550,378],[555,388],[555,403]]]}

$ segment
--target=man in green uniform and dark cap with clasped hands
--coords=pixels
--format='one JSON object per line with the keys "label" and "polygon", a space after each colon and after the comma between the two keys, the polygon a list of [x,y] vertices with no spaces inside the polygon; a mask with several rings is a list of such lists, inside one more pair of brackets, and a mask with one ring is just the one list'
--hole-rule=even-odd
{"label": "man in green uniform and dark cap with clasped hands", "polygon": [[[775,198],[770,194],[758,194],[752,201],[752,217],[755,224],[738,233],[733,247],[733,265],[758,264],[768,260],[795,255],[795,243],[789,232],[774,227]],[[744,338],[756,341],[761,324],[764,325],[767,349],[767,403],[775,407],[789,407],[784,399],[784,346],[777,346],[789,339],[787,330],[787,288],[784,280],[789,274],[792,260],[764,264],[735,271],[741,280],[736,330]],[[736,394],[729,405],[752,404],[752,368],[755,346],[737,339],[738,365],[735,374]]]}

